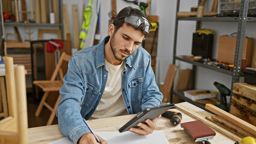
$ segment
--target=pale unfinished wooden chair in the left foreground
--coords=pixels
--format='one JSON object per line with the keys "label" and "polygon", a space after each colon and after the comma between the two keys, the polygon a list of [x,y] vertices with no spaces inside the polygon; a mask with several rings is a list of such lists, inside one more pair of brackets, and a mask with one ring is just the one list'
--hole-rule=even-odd
{"label": "pale unfinished wooden chair in the left foreground", "polygon": [[25,67],[13,68],[13,58],[10,57],[5,57],[4,62],[9,116],[0,121],[0,143],[25,144],[28,143]]}

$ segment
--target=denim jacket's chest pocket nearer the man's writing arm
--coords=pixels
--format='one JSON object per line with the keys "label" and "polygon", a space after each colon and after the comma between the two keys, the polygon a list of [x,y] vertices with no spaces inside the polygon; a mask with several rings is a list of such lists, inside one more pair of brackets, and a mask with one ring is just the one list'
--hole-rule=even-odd
{"label": "denim jacket's chest pocket nearer the man's writing arm", "polygon": [[93,84],[87,82],[87,87],[85,88],[85,91],[86,92],[85,92],[84,100],[82,101],[81,105],[85,107],[89,107],[93,102],[94,98],[96,97],[96,95],[98,95],[100,90]]}

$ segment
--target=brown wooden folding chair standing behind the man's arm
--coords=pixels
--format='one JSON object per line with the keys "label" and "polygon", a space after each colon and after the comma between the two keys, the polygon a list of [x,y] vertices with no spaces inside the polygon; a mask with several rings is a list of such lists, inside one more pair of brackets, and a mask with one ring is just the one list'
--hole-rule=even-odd
{"label": "brown wooden folding chair standing behind the man's arm", "polygon": [[[50,114],[50,118],[46,125],[51,125],[53,119],[55,118],[56,109],[58,106],[59,101],[61,101],[61,96],[58,96],[58,99],[56,100],[56,103],[54,107],[50,106],[48,103],[46,103],[46,98],[49,95],[49,92],[52,91],[59,91],[61,89],[61,86],[63,85],[63,72],[61,69],[61,65],[63,61],[69,62],[69,59],[71,58],[70,55],[67,55],[65,52],[62,53],[61,58],[59,59],[58,65],[56,66],[55,70],[53,71],[52,77],[50,80],[35,80],[33,83],[34,85],[37,85],[39,88],[41,88],[44,91],[43,98],[40,101],[39,106],[37,107],[37,111],[35,112],[35,116],[39,116],[41,109],[43,106],[46,106],[47,109],[49,109],[52,113]],[[59,79],[56,80],[57,74],[59,73]]]}

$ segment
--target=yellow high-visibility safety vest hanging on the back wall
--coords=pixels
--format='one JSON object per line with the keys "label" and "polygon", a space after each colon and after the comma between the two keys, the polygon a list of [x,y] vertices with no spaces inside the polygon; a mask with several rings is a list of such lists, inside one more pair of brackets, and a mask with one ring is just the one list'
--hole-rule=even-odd
{"label": "yellow high-visibility safety vest hanging on the back wall", "polygon": [[87,37],[87,33],[90,27],[90,22],[91,22],[91,5],[92,5],[92,0],[89,2],[89,4],[87,5],[87,7],[84,10],[84,22],[82,23],[82,30],[80,32],[79,38],[82,39],[81,43],[80,43],[80,49],[84,49],[84,44],[85,44],[85,40]]}

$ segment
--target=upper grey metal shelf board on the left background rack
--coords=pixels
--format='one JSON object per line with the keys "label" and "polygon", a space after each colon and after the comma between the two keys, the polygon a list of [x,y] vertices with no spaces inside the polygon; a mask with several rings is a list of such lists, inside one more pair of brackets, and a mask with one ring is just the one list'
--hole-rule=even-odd
{"label": "upper grey metal shelf board on the left background rack", "polygon": [[62,23],[19,23],[19,22],[5,22],[5,26],[62,26]]}

